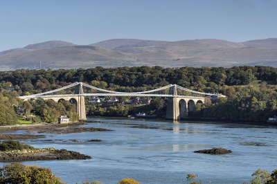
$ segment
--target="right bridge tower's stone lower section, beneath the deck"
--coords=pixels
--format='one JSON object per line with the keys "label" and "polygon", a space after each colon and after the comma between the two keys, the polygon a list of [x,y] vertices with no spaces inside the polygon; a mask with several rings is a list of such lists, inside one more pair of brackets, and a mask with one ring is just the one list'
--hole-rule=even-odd
{"label": "right bridge tower's stone lower section, beneath the deck", "polygon": [[168,107],[166,109],[166,119],[167,120],[179,120],[179,100],[178,98],[168,98]]}

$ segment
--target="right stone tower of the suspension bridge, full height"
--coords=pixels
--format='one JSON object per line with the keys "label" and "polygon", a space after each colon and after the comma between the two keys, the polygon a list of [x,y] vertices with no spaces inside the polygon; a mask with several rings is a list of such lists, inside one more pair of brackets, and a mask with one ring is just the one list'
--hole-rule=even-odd
{"label": "right stone tower of the suspension bridge, full height", "polygon": [[170,94],[172,94],[173,97],[168,98],[168,107],[166,109],[166,119],[179,120],[180,119],[179,99],[177,97],[174,97],[177,95],[176,84],[170,87]]}

